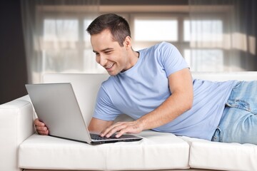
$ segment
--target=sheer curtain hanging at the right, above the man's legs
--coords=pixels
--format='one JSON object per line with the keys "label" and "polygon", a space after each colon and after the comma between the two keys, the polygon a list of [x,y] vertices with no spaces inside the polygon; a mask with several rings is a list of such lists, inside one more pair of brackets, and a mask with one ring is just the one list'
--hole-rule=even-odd
{"label": "sheer curtain hanging at the right, above the man's legs", "polygon": [[256,0],[189,0],[193,71],[257,71]]}

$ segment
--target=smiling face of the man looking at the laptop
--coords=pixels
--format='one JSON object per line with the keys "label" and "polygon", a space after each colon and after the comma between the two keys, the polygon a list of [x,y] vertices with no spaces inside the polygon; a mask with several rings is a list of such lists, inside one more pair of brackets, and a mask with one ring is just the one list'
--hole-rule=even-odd
{"label": "smiling face of the man looking at the laptop", "polygon": [[109,29],[91,36],[91,45],[96,53],[96,62],[103,66],[110,76],[131,68],[126,46],[114,41]]}

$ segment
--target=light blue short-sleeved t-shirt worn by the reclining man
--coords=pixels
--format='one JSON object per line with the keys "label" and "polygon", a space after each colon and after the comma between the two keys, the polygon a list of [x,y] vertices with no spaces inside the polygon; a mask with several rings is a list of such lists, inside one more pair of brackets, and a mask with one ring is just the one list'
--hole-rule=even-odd
{"label": "light blue short-sleeved t-shirt worn by the reclining man", "polygon": [[[94,118],[115,120],[120,114],[141,118],[171,95],[168,76],[188,68],[171,43],[158,43],[139,52],[135,66],[102,83]],[[193,107],[175,120],[153,130],[211,140],[236,81],[193,80]],[[183,102],[181,102],[183,103]]]}

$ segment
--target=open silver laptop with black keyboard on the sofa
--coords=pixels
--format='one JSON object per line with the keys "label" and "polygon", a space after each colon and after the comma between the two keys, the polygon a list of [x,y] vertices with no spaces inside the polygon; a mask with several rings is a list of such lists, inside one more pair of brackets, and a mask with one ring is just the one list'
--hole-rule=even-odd
{"label": "open silver laptop with black keyboard on the sofa", "polygon": [[115,135],[110,138],[101,138],[97,134],[89,133],[71,83],[26,84],[25,86],[39,120],[46,124],[51,136],[92,145],[142,139],[129,134],[122,135],[120,138],[116,138]]}

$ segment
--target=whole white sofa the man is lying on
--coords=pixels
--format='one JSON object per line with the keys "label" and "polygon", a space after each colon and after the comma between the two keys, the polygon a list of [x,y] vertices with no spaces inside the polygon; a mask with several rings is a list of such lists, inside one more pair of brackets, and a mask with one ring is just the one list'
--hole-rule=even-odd
{"label": "whole white sofa the man is lying on", "polygon": [[[89,74],[48,74],[44,83],[71,82],[84,120],[94,108],[97,85],[91,102],[84,103]],[[108,77],[102,75],[103,81]],[[193,78],[213,81],[257,80],[257,72],[193,73]],[[221,143],[177,137],[151,130],[140,133],[139,142],[88,145],[35,133],[34,109],[28,95],[0,105],[0,170],[257,170],[257,145]],[[122,116],[119,120],[128,120]]]}

